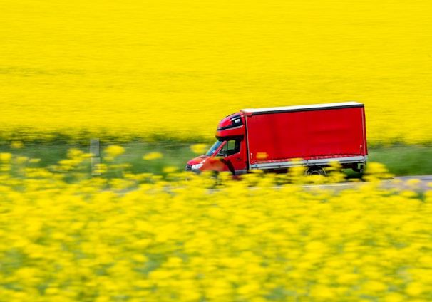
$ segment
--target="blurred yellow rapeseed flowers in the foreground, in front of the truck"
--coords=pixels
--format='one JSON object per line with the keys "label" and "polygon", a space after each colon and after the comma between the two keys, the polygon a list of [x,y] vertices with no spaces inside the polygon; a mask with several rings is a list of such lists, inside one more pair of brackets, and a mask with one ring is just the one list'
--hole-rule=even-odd
{"label": "blurred yellow rapeseed flowers in the foreground, in front of the truck", "polygon": [[257,174],[207,189],[89,178],[88,160],[0,154],[0,301],[432,299],[432,191],[381,189],[380,165],[344,190]]}

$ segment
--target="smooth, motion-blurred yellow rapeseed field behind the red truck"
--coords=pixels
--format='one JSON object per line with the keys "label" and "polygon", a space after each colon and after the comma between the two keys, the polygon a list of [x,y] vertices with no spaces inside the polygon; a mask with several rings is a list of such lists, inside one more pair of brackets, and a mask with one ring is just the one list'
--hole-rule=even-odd
{"label": "smooth, motion-blurred yellow rapeseed field behind the red truck", "polygon": [[369,142],[431,142],[431,16],[428,0],[3,1],[0,136],[210,141],[240,108],[356,100]]}

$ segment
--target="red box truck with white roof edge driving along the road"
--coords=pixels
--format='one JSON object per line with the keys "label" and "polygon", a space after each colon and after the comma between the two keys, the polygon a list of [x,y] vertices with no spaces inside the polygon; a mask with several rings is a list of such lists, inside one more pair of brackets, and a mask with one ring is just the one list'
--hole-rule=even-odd
{"label": "red box truck with white roof edge driving along the road", "polygon": [[325,175],[335,161],[361,172],[368,157],[364,104],[357,102],[242,109],[220,121],[216,138],[186,170],[242,175],[302,165],[306,175]]}

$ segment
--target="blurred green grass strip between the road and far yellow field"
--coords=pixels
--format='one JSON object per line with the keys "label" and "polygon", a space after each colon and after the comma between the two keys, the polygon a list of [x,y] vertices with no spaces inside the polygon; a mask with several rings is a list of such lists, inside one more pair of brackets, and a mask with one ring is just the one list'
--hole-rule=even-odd
{"label": "blurred green grass strip between the road and far yellow field", "polygon": [[[128,170],[133,173],[152,173],[163,175],[166,167],[185,169],[187,160],[196,157],[191,146],[195,142],[178,142],[176,140],[163,140],[160,142],[127,142],[123,144],[110,144],[101,142],[101,162],[106,154],[103,150],[110,145],[120,145],[125,149],[122,155],[115,158],[115,163],[128,164]],[[210,147],[210,143],[208,144]],[[70,144],[66,142],[29,143],[16,145],[3,143],[0,152],[9,152],[14,155],[40,159],[38,167],[56,165],[67,157],[68,150],[76,148],[83,152],[90,152],[89,145]],[[152,152],[162,155],[160,158],[145,160],[143,157]],[[381,162],[389,172],[396,176],[432,175],[432,148],[419,145],[394,145],[391,147],[369,147],[369,162]],[[89,167],[90,171],[90,167]],[[346,171],[349,173],[349,171]]]}

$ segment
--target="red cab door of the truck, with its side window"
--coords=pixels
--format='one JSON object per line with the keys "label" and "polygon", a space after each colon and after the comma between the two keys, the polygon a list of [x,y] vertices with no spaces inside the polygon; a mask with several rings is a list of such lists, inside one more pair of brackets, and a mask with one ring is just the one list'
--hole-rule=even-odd
{"label": "red cab door of the truck, with its side window", "polygon": [[242,175],[247,172],[245,147],[245,140],[242,138],[224,142],[217,155],[220,157],[220,162],[223,164],[223,171],[230,171],[232,175]]}

